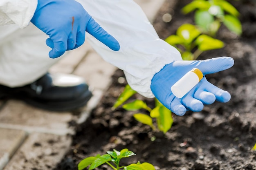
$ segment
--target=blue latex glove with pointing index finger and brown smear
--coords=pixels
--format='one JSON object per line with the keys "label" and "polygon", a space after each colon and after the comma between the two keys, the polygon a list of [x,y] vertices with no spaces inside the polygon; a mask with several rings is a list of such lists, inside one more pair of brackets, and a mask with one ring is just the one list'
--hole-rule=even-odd
{"label": "blue latex glove with pointing index finger and brown smear", "polygon": [[51,58],[81,46],[85,41],[85,31],[110,49],[120,49],[117,40],[101,28],[75,0],[38,0],[31,22],[49,35],[46,44],[52,48],[49,52]]}

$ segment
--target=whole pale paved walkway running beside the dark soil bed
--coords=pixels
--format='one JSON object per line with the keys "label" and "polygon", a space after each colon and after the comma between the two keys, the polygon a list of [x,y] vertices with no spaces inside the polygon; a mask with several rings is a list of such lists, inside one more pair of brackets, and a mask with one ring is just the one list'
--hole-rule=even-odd
{"label": "whole pale paved walkway running beside the dark soil bed", "polygon": [[[164,0],[135,0],[152,22]],[[16,100],[0,102],[0,170],[52,170],[69,149],[70,121],[83,123],[110,85],[116,67],[103,61],[85,42],[50,72],[72,73],[93,87],[93,97],[80,115],[49,112]]]}

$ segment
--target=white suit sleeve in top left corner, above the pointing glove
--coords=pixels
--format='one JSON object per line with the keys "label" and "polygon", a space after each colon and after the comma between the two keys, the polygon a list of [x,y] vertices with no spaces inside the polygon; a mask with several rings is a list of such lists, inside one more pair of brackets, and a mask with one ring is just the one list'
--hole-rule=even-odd
{"label": "white suit sleeve in top left corner, above the pointing glove", "polygon": [[0,0],[0,25],[17,24],[21,29],[29,25],[37,7],[37,0]]}

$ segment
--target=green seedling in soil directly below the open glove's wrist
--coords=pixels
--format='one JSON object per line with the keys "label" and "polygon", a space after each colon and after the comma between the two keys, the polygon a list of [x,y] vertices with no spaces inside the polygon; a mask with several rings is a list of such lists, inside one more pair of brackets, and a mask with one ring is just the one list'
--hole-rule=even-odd
{"label": "green seedling in soil directly below the open glove's wrist", "polygon": [[[167,109],[164,105],[162,105],[155,98],[155,108],[150,108],[148,105],[142,101],[135,99],[132,102],[124,104],[127,99],[129,99],[132,95],[134,95],[136,91],[133,91],[129,85],[126,85],[125,90],[121,93],[117,101],[115,102],[113,109],[122,105],[122,108],[128,111],[136,111],[140,109],[144,109],[148,111],[148,114],[145,113],[135,113],[133,117],[141,122],[142,124],[146,124],[152,128],[153,131],[160,130],[163,133],[166,133],[170,130],[171,125],[173,124],[173,118],[171,116],[171,110]],[[156,119],[157,127],[153,124],[153,119]]]}

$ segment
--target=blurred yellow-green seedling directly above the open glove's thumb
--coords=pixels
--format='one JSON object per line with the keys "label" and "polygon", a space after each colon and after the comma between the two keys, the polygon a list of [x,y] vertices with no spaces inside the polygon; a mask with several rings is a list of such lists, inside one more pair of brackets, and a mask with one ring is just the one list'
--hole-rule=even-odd
{"label": "blurred yellow-green seedling directly above the open glove's thumb", "polygon": [[221,49],[224,43],[209,35],[202,34],[200,29],[192,24],[182,24],[165,40],[180,51],[183,60],[196,60],[204,51]]}

